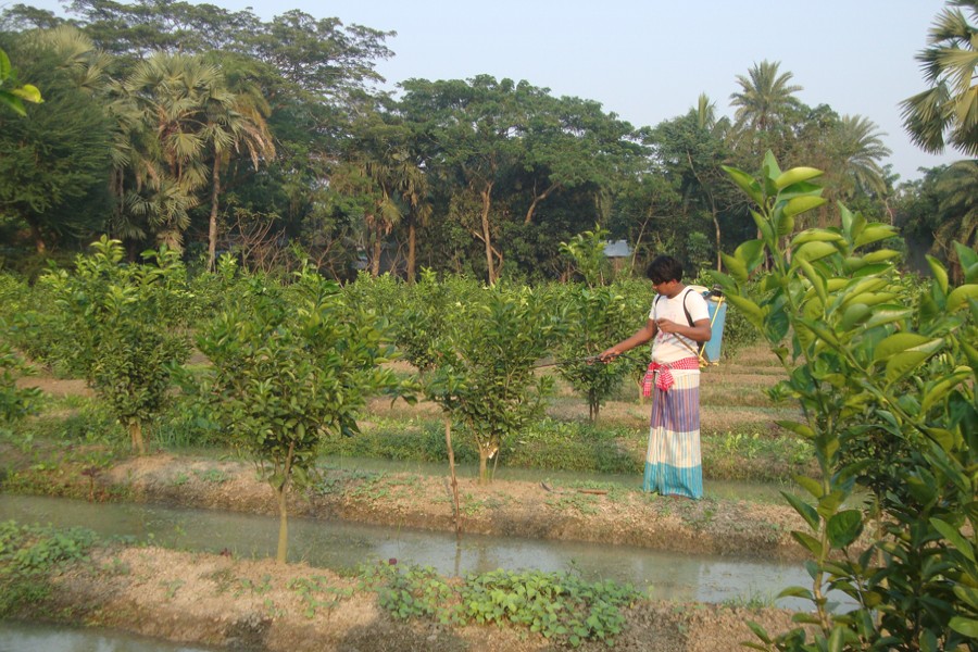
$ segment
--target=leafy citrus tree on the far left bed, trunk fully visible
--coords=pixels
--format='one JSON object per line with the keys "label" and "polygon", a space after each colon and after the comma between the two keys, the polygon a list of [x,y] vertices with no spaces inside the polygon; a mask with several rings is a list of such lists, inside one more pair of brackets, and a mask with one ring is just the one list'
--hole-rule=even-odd
{"label": "leafy citrus tree on the far left bed, trunk fully visible", "polygon": [[180,329],[190,294],[179,256],[149,251],[142,264],[124,263],[122,242],[105,236],[75,271],[41,278],[59,312],[52,326],[68,366],[79,371],[146,453],[143,425],[170,400],[172,376],[190,353]]}

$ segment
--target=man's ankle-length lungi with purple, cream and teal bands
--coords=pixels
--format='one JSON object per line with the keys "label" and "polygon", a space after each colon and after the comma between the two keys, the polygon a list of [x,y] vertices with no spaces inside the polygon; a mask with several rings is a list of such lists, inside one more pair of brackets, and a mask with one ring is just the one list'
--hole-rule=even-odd
{"label": "man's ankle-length lungi with purple, cream and teal bands", "polygon": [[673,371],[675,385],[653,390],[642,489],[703,498],[700,457],[700,372]]}

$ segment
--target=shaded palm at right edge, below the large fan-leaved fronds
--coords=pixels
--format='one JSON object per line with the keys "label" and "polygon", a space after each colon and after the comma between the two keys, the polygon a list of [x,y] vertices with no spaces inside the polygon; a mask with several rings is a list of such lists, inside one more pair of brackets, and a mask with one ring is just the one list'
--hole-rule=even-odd
{"label": "shaded palm at right edge, below the large fan-leaved fronds", "polygon": [[956,283],[964,280],[953,243],[978,247],[978,161],[958,161],[938,177],[941,222],[933,234],[933,251],[943,252]]}

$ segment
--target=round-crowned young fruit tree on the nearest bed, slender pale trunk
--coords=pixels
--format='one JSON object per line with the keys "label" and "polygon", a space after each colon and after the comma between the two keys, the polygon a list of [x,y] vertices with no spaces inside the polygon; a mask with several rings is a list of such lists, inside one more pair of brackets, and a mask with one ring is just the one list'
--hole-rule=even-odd
{"label": "round-crowned young fruit tree on the nearest bed, slender pale trunk", "polygon": [[237,287],[248,294],[243,308],[222,313],[198,337],[213,364],[197,391],[275,491],[276,559],[285,563],[290,488],[314,478],[325,438],[358,432],[367,397],[398,391],[393,373],[380,366],[393,349],[386,323],[309,268],[288,288],[261,277]]}

